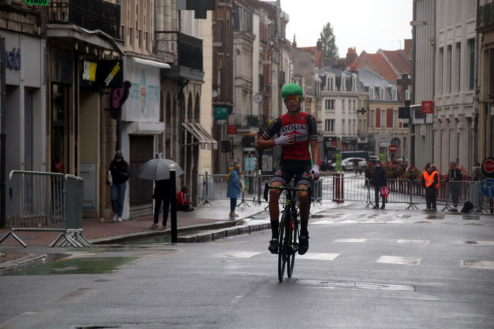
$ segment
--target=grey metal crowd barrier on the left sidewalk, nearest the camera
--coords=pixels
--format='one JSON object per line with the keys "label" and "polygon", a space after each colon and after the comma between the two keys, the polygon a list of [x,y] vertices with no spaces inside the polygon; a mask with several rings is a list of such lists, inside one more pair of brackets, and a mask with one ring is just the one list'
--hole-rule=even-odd
{"label": "grey metal crowd barrier on the left sidewalk, nearest the camera", "polygon": [[16,231],[60,232],[49,246],[64,239],[73,247],[90,247],[82,237],[82,178],[62,173],[10,172],[9,232],[23,247]]}

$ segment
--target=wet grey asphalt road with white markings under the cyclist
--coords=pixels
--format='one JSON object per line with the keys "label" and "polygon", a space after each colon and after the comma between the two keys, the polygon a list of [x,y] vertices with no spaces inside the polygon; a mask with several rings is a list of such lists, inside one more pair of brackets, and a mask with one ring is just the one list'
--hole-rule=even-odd
{"label": "wet grey asphalt road with white markings under the cyclist", "polygon": [[0,328],[493,328],[494,217],[355,205],[309,233],[281,283],[270,231],[3,272]]}

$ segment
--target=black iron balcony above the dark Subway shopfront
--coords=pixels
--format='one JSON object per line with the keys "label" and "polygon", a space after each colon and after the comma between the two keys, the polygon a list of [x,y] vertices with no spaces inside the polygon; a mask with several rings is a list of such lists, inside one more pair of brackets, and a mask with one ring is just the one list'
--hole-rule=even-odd
{"label": "black iron balcony above the dark Subway shopfront", "polygon": [[97,29],[120,39],[120,5],[103,0],[50,0],[47,23],[74,24]]}

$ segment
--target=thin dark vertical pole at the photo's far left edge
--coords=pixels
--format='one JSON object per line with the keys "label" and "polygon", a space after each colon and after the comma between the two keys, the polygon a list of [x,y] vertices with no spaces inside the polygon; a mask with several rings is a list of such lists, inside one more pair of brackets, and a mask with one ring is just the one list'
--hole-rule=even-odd
{"label": "thin dark vertical pole at the photo's far left edge", "polygon": [[5,227],[5,36],[0,36],[0,228]]}

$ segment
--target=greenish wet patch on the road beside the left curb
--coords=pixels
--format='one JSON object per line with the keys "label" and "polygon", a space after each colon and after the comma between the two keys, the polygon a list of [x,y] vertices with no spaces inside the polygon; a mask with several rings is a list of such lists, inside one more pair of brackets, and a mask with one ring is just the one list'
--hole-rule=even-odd
{"label": "greenish wet patch on the road beside the left curb", "polygon": [[1,273],[2,276],[49,276],[52,274],[104,274],[138,260],[139,257],[62,258],[26,269]]}

